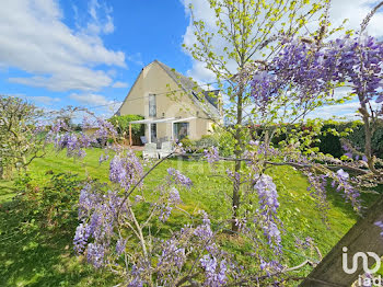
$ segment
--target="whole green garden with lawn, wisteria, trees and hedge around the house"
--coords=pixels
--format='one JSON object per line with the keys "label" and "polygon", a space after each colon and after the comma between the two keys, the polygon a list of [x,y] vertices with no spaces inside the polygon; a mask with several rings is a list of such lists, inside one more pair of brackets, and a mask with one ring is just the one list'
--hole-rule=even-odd
{"label": "whole green garden with lawn, wisteria, trees and hedge around the house", "polygon": [[[343,249],[383,255],[383,44],[364,33],[383,2],[355,32],[330,27],[330,1],[209,3],[218,33],[190,7],[199,45],[185,49],[216,73],[228,122],[162,159],[127,145],[138,116],[0,96],[1,286],[372,286],[383,274]],[[211,51],[217,36],[235,74]],[[345,102],[359,120],[307,117]]]}

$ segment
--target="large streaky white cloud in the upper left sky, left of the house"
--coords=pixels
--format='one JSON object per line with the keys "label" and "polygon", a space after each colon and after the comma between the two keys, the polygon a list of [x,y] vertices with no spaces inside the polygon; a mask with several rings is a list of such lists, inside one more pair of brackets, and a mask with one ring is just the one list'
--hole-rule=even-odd
{"label": "large streaky white cloud in the upper left sky, left of the house", "polygon": [[[111,85],[112,78],[96,67],[126,67],[125,54],[107,49],[100,37],[100,33],[114,30],[111,9],[95,1],[90,11],[92,21],[85,28],[78,26],[73,31],[62,22],[62,11],[55,0],[12,0],[3,4],[0,66],[31,73],[9,80],[53,91],[97,91]],[[100,13],[106,14],[106,22],[100,20]]]}

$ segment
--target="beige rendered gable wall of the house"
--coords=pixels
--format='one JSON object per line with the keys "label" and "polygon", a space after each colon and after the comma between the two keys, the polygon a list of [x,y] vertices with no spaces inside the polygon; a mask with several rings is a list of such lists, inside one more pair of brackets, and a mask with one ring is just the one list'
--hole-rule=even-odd
{"label": "beige rendered gable wall of the house", "polygon": [[[167,85],[167,87],[166,87]],[[128,97],[123,103],[120,115],[136,114],[149,118],[149,94],[156,94],[156,118],[169,117],[206,117],[206,114],[196,106],[188,95],[182,91],[169,96],[170,91],[178,91],[181,88],[155,61],[143,68],[135,85],[131,88]],[[176,97],[177,100],[173,100]],[[189,138],[199,139],[202,135],[209,134],[212,122],[205,118],[188,120]],[[148,127],[146,127],[148,138]],[[156,124],[156,137],[171,138],[171,123]]]}

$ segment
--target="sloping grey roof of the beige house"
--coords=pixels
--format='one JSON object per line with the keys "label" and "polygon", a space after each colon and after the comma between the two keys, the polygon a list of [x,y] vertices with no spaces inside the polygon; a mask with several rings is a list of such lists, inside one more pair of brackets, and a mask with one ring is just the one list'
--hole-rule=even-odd
{"label": "sloping grey roof of the beige house", "polygon": [[159,60],[154,60],[154,62],[159,64],[160,67],[175,81],[175,83],[177,83],[185,91],[185,93],[189,95],[192,101],[208,116],[216,118],[221,117],[218,107],[219,90],[205,91],[192,78],[185,77]]}

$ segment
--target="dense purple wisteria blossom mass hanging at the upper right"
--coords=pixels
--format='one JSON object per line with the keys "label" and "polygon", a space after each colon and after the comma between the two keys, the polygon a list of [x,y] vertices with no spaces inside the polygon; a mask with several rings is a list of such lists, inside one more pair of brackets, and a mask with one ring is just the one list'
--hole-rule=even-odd
{"label": "dense purple wisteria blossom mass hanging at the upper right", "polygon": [[383,102],[383,43],[371,36],[338,38],[324,47],[294,41],[252,80],[254,102],[263,111],[290,91],[298,103],[347,82],[361,103]]}

